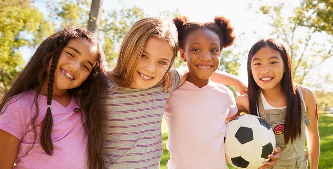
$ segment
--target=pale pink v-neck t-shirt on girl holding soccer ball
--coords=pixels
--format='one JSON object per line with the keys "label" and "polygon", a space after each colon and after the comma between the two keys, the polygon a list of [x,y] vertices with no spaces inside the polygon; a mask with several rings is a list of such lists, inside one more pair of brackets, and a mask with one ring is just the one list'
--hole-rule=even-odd
{"label": "pale pink v-neck t-shirt on girl holding soccer ball", "polygon": [[228,168],[226,117],[237,111],[231,91],[212,81],[202,88],[185,81],[174,90],[164,114],[169,128],[168,168]]}

